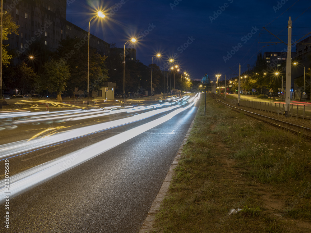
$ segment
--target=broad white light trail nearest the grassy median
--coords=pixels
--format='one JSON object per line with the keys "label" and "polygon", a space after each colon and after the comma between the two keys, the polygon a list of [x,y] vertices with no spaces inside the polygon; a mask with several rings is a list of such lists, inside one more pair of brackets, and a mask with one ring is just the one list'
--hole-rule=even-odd
{"label": "broad white light trail nearest the grassy median", "polygon": [[[167,115],[160,117],[156,120],[145,123],[141,126],[137,126],[133,129],[122,132],[118,135],[114,135],[108,139],[104,139],[100,142],[87,146],[83,149],[77,150],[75,152],[64,155],[60,158],[54,159],[52,161],[40,164],[36,167],[30,168],[26,171],[20,172],[16,175],[10,177],[10,197],[15,196],[21,192],[28,190],[42,182],[45,182],[55,176],[62,174],[65,171],[72,169],[80,165],[83,162],[90,160],[114,147],[120,145],[129,139],[136,137],[137,135],[146,132],[158,126],[165,121],[168,121],[172,117],[176,116],[180,112],[192,107],[194,101],[184,108],[178,108],[173,112],[168,113]],[[174,106],[175,107],[175,106]],[[154,110],[157,111],[157,110]],[[144,114],[144,113],[142,113]],[[83,156],[82,156],[83,155]],[[1,180],[4,184],[4,180]],[[0,188],[0,203],[5,201],[4,196],[6,195],[5,187]]]}

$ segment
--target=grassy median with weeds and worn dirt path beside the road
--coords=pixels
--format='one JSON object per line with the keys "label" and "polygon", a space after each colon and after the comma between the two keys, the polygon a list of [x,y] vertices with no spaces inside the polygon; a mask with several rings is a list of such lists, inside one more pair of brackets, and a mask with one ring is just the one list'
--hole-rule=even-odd
{"label": "grassy median with weeds and worn dirt path beside the road", "polygon": [[211,98],[207,109],[201,101],[153,232],[311,231],[310,143]]}

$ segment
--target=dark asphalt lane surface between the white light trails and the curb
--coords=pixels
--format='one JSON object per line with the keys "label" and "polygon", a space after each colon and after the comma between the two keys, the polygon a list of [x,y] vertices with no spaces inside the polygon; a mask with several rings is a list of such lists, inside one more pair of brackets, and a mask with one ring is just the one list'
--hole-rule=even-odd
{"label": "dark asphalt lane surface between the white light trails and the curb", "polygon": [[[199,101],[165,123],[11,198],[10,228],[3,224],[1,232],[137,232],[198,105]],[[54,159],[152,119],[33,152],[18,158],[16,169],[42,163],[42,158]],[[5,216],[4,204],[0,209]]]}

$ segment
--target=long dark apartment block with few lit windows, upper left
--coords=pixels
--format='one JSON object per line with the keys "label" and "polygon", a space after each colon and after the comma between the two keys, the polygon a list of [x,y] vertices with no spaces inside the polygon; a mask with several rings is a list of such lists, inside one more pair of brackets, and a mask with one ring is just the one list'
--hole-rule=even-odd
{"label": "long dark apartment block with few lit windows, upper left", "polygon": [[[10,12],[19,27],[19,35],[11,34],[5,42],[8,49],[16,51],[14,63],[37,40],[50,51],[55,51],[59,42],[67,36],[77,36],[87,43],[88,32],[66,20],[65,0],[3,0],[3,9]],[[90,35],[90,47],[102,55],[108,55],[109,43]]]}

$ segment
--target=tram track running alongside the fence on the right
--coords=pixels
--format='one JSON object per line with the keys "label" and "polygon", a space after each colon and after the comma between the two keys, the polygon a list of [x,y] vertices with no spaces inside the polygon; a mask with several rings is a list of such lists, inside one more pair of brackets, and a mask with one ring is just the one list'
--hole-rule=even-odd
{"label": "tram track running alongside the fence on the right", "polygon": [[253,117],[255,119],[258,119],[260,121],[266,122],[267,124],[281,128],[283,130],[288,130],[290,132],[293,132],[297,135],[301,135],[301,136],[311,140],[311,129],[310,128],[307,128],[304,126],[299,126],[296,124],[292,124],[292,123],[286,122],[286,121],[281,121],[281,120],[278,120],[278,119],[275,119],[272,117],[267,117],[267,116],[264,116],[264,115],[261,115],[261,114],[255,113],[255,112],[246,111],[246,110],[240,109],[238,107],[234,107],[234,106],[231,106],[227,103],[224,103],[212,94],[210,94],[210,96],[211,96],[211,98],[216,100],[216,102],[221,103],[221,104],[225,105],[226,107],[228,107],[228,108],[230,108],[236,112],[243,112],[244,115],[247,115],[247,116]]}

